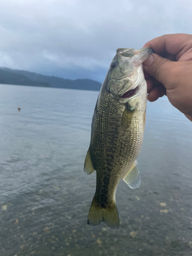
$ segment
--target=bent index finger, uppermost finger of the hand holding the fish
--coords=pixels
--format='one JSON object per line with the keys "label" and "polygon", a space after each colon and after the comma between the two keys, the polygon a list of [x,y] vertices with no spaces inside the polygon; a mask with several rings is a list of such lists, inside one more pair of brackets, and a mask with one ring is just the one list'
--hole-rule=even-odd
{"label": "bent index finger, uppermost finger of the hand holding the fish", "polygon": [[168,34],[156,37],[148,41],[143,48],[152,48],[159,55],[169,53],[177,55],[180,58],[186,51],[191,48],[192,35],[189,34]]}

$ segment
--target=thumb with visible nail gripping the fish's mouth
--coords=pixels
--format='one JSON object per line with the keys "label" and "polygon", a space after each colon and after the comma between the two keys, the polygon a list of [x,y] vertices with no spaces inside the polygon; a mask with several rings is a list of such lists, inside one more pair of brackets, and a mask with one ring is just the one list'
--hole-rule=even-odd
{"label": "thumb with visible nail gripping the fish's mouth", "polygon": [[156,53],[153,53],[148,59],[143,61],[143,69],[163,85],[165,85],[169,77],[172,66],[173,61],[163,58]]}

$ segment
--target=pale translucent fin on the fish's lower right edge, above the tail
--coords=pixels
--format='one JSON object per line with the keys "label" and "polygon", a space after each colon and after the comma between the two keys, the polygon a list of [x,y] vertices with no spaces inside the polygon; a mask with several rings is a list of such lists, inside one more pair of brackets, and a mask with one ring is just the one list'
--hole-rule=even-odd
{"label": "pale translucent fin on the fish's lower right edge, above the tail", "polygon": [[136,162],[132,165],[131,169],[126,174],[126,176],[123,178],[123,180],[131,188],[136,188],[136,187],[140,186],[141,178],[140,178],[137,166],[136,166]]}

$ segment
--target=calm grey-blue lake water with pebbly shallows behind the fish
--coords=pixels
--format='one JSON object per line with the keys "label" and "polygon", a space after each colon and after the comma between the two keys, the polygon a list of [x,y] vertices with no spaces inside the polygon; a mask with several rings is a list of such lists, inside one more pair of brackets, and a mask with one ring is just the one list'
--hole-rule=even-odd
{"label": "calm grey-blue lake water with pebbly shallows behind the fish", "polygon": [[192,255],[192,123],[166,97],[148,102],[141,185],[120,182],[114,231],[87,226],[96,174],[83,164],[98,92],[0,91],[1,256]]}

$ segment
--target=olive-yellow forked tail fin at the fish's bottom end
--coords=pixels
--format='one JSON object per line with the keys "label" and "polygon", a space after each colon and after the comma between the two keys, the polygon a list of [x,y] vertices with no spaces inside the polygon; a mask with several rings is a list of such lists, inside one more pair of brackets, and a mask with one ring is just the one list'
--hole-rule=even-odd
{"label": "olive-yellow forked tail fin at the fish's bottom end", "polygon": [[96,227],[100,225],[102,222],[112,229],[119,229],[119,216],[117,211],[116,203],[109,208],[98,207],[98,204],[95,201],[95,197],[93,198],[91,208],[89,210],[88,215],[88,225],[92,227]]}

